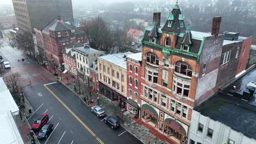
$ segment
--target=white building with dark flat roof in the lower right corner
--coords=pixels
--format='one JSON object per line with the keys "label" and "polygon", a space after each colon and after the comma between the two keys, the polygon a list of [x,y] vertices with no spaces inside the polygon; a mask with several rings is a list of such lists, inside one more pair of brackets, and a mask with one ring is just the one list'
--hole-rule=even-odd
{"label": "white building with dark flat roof in the lower right corner", "polygon": [[194,108],[190,143],[256,143],[255,75],[254,65]]}

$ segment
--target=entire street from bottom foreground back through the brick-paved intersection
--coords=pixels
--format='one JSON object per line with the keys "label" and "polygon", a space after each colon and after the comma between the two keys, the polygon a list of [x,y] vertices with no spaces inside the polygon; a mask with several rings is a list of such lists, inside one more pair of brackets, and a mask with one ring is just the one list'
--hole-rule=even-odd
{"label": "entire street from bottom foreground back through the brick-paved intersection", "polygon": [[[54,124],[54,131],[47,139],[40,143],[142,143],[123,127],[113,130],[90,111],[78,95],[55,79],[33,61],[25,60],[22,53],[15,47],[9,46],[7,39],[0,47],[0,55],[4,61],[9,61],[11,68],[6,69],[4,79],[15,75],[18,86],[23,89],[27,100],[36,111],[27,117],[32,125],[34,120],[42,113],[49,115],[49,123]],[[32,82],[32,87],[28,85]],[[53,83],[44,86],[46,83]],[[36,131],[36,135],[38,131]]]}

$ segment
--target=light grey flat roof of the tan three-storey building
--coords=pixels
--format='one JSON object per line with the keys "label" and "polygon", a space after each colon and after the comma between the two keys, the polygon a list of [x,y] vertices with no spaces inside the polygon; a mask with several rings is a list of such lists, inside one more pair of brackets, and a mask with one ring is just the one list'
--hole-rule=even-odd
{"label": "light grey flat roof of the tan three-storey building", "polygon": [[112,55],[101,56],[99,58],[104,59],[105,61],[107,61],[109,63],[113,63],[113,64],[117,65],[118,67],[126,69],[127,61],[124,61],[123,57],[124,57],[124,55],[130,55],[130,54],[132,54],[132,52],[114,53]]}

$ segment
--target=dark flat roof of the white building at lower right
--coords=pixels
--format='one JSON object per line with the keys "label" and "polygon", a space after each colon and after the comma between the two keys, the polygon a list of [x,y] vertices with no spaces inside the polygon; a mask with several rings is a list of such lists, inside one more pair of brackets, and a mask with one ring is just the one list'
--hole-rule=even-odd
{"label": "dark flat roof of the white building at lower right", "polygon": [[256,99],[245,101],[228,94],[228,91],[236,86],[245,91],[249,82],[256,82],[256,67],[248,70],[238,77],[222,93],[216,93],[208,100],[194,108],[203,116],[222,122],[236,131],[240,131],[248,137],[256,139]]}

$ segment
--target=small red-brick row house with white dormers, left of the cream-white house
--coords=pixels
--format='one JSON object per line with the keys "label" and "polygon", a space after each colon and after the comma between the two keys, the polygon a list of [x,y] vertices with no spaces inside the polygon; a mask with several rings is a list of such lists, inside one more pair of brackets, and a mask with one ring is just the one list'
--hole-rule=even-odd
{"label": "small red-brick row house with white dormers, left of the cream-white house", "polygon": [[63,73],[72,74],[74,77],[77,77],[77,59],[75,58],[75,51],[73,50],[76,47],[83,47],[84,44],[78,43],[73,40],[65,49],[62,50],[63,62],[65,70]]}

